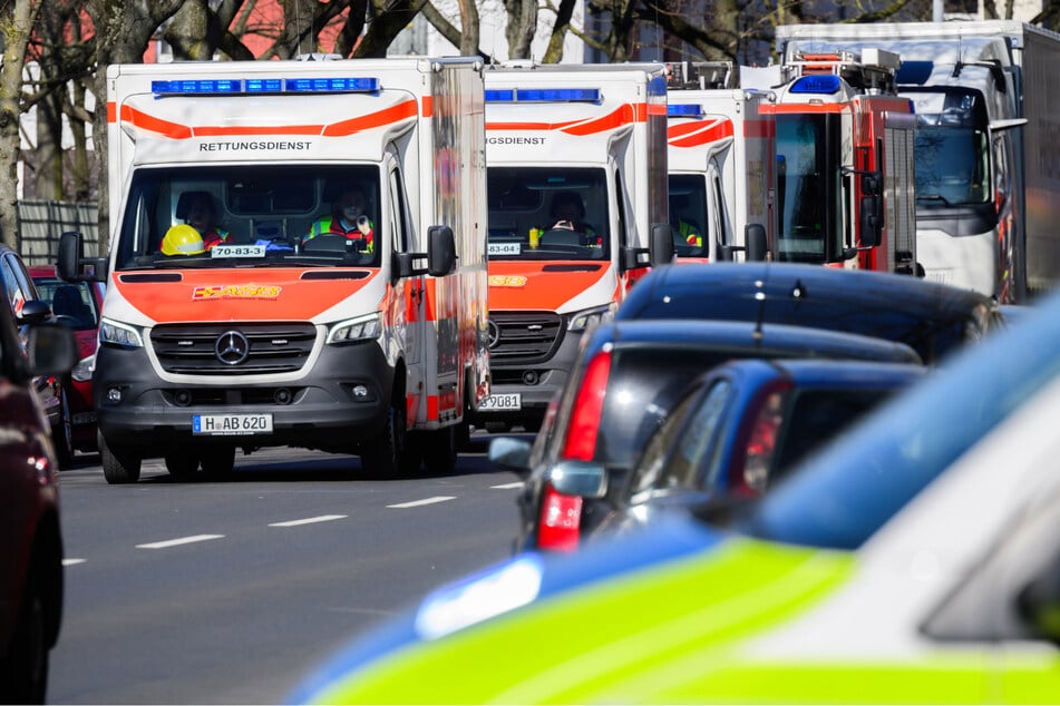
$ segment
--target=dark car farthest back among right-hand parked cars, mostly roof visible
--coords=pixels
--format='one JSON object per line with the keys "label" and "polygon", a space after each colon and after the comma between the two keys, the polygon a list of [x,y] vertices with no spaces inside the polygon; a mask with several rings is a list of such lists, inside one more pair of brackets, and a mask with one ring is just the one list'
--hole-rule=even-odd
{"label": "dark car farthest back among right-hand parked cars, mostly roof visible", "polygon": [[616,321],[762,321],[846,331],[912,346],[935,364],[1005,325],[982,294],[908,275],[796,263],[682,264],[652,269]]}

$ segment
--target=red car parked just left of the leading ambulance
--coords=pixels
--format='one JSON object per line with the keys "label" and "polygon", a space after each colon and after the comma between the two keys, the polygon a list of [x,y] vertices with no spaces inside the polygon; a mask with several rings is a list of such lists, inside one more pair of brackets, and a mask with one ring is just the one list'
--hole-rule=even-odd
{"label": "red car parked just left of the leading ambulance", "polygon": [[96,411],[93,406],[93,370],[99,343],[99,312],[104,285],[99,282],[64,282],[52,265],[29,268],[38,296],[51,305],[56,321],[74,330],[80,360],[62,380],[64,421],[52,430],[59,465],[74,460],[75,451],[96,450]]}

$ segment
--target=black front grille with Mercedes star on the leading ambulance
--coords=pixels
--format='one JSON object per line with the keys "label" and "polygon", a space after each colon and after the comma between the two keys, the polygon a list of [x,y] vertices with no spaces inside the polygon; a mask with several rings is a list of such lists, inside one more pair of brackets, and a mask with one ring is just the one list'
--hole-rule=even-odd
{"label": "black front grille with Mercedes star on the leading ambulance", "polygon": [[[217,339],[230,332],[246,339],[246,359],[237,364],[217,357]],[[252,375],[288,373],[305,364],[317,329],[299,323],[162,324],[150,331],[150,345],[168,373]]]}

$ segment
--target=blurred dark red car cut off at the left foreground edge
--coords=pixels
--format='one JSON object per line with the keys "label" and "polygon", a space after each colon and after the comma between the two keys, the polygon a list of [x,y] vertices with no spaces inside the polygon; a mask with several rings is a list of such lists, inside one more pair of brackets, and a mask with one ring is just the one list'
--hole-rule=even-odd
{"label": "blurred dark red car cut off at the left foreground edge", "polygon": [[23,317],[20,331],[16,311],[49,317],[32,300],[0,306],[0,703],[40,704],[62,615],[62,533],[58,462],[35,386],[70,371],[77,343],[50,322]]}

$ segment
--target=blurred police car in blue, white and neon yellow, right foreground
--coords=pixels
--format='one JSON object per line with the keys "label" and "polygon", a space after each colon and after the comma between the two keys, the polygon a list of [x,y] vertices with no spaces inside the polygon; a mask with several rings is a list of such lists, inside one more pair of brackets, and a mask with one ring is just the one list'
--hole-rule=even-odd
{"label": "blurred police car in blue, white and neon yellow, right foreground", "polygon": [[[638,285],[640,286],[640,285]],[[298,703],[1054,703],[1060,295],[725,529],[673,516],[438,589]]]}

